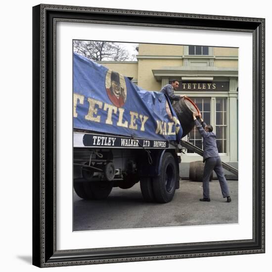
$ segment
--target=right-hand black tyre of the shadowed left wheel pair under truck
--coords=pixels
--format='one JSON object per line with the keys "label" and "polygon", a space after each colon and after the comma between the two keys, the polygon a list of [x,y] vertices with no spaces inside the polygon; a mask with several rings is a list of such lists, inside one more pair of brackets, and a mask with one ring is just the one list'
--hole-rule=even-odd
{"label": "right-hand black tyre of the shadowed left wheel pair under truck", "polygon": [[113,187],[112,181],[90,181],[84,183],[84,191],[88,199],[105,199]]}

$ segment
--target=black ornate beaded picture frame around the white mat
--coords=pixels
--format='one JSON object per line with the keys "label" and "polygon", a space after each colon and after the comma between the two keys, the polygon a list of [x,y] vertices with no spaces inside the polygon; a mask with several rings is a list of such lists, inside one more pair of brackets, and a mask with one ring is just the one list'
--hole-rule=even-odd
{"label": "black ornate beaded picture frame around the white mat", "polygon": [[[96,21],[132,27],[142,25],[253,34],[253,239],[56,250],[57,21]],[[33,264],[38,267],[55,267],[264,252],[265,19],[46,4],[33,7]]]}

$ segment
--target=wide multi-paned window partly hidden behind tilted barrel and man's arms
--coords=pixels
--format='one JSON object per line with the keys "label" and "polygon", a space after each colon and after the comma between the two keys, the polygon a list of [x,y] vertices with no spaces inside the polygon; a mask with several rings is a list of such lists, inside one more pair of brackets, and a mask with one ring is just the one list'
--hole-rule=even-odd
{"label": "wide multi-paned window partly hidden behind tilted barrel and man's arms", "polygon": [[[203,120],[206,124],[211,123],[211,99],[210,98],[191,98],[197,105],[199,111],[201,112]],[[189,142],[197,147],[203,149],[203,139],[198,129],[194,127],[188,134]],[[194,153],[193,151],[187,150],[187,153]]]}

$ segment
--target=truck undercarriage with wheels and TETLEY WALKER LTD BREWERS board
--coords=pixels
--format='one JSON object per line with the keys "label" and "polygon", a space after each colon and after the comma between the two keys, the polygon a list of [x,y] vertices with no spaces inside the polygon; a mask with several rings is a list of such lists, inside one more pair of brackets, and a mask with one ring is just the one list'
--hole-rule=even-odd
{"label": "truck undercarriage with wheels and TETLEY WALKER LTD BREWERS board", "polygon": [[179,188],[175,141],[74,132],[74,189],[83,199],[105,199],[113,187],[140,182],[147,202],[167,203]]}

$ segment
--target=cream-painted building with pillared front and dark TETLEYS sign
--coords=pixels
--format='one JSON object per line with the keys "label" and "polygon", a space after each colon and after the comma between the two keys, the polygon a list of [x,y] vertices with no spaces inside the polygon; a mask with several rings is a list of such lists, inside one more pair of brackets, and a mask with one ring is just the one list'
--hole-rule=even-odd
{"label": "cream-painted building with pillared front and dark TETLEYS sign", "polygon": [[[100,62],[147,91],[160,91],[176,79],[176,94],[186,94],[198,106],[203,119],[214,127],[222,161],[238,168],[238,48],[199,45],[139,44],[137,61]],[[193,129],[183,140],[202,148]],[[181,177],[188,177],[189,163],[202,158],[184,150]]]}

